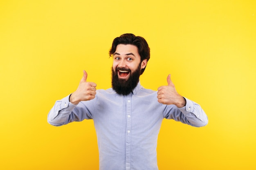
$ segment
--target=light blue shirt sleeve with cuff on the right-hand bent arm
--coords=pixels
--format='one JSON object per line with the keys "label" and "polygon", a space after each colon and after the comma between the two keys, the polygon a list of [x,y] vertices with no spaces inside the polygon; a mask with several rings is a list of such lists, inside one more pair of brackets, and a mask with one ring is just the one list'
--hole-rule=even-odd
{"label": "light blue shirt sleeve with cuff on the right-hand bent arm", "polygon": [[173,105],[167,105],[164,117],[166,119],[181,121],[184,124],[189,124],[195,127],[206,126],[208,124],[208,117],[204,113],[204,110],[201,108],[201,106],[187,98],[185,99],[186,106],[182,108],[177,108]]}

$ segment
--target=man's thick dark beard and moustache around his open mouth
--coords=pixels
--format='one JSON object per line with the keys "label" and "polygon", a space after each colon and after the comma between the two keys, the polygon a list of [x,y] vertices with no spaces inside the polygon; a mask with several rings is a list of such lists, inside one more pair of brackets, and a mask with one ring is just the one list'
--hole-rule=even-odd
{"label": "man's thick dark beard and moustache around his open mouth", "polygon": [[[114,71],[112,67],[112,88],[117,92],[119,95],[128,95],[130,94],[133,89],[137,86],[139,82],[139,76],[141,73],[140,64],[134,73],[130,71],[130,77],[128,80],[119,79],[118,78],[118,71],[117,68]],[[126,70],[126,69],[123,69]]]}

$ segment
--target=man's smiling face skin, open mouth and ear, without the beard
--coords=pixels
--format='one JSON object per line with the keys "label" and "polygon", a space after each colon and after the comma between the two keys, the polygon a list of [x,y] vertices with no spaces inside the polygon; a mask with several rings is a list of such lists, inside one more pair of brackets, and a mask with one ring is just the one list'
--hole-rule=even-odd
{"label": "man's smiling face skin, open mouth and ear, without the beard", "polygon": [[145,68],[147,60],[141,62],[138,48],[131,44],[118,44],[113,54],[113,70],[117,71],[119,79],[128,80],[130,75],[135,72],[140,65]]}

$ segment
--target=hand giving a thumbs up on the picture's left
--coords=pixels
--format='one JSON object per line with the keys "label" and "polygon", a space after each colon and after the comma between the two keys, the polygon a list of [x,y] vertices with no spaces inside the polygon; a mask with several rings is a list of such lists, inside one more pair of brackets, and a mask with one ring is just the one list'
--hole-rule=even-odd
{"label": "hand giving a thumbs up on the picture's left", "polygon": [[72,104],[79,104],[81,101],[87,101],[95,98],[96,86],[94,82],[87,82],[87,73],[83,71],[83,77],[79,83],[78,88],[72,95],[70,95],[70,102]]}

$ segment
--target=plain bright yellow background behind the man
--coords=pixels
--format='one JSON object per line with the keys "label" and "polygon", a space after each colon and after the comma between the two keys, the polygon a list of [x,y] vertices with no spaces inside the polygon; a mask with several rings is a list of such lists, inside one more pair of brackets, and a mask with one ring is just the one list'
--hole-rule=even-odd
{"label": "plain bright yellow background behind the man", "polygon": [[209,124],[164,120],[159,170],[256,169],[255,0],[1,0],[0,169],[97,170],[92,120],[54,127],[47,114],[83,69],[110,87],[112,40],[144,37],[145,88],[199,103]]}

